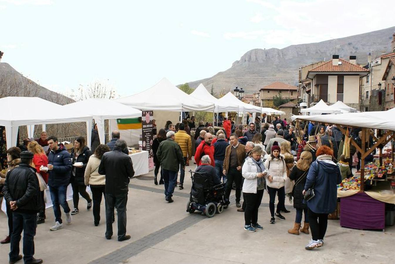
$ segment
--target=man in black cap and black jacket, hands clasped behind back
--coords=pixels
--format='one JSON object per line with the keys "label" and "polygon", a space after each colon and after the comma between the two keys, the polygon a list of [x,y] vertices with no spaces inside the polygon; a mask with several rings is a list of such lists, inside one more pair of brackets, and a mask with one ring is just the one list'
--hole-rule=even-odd
{"label": "man in black cap and black jacket, hands clasped behind back", "polygon": [[22,259],[19,255],[19,242],[23,231],[23,260],[24,263],[42,263],[35,259],[34,236],[36,235],[37,213],[41,208],[40,187],[36,169],[32,166],[33,153],[21,152],[21,163],[10,170],[3,188],[7,203],[13,210],[13,232],[11,235],[11,251],[9,263]]}

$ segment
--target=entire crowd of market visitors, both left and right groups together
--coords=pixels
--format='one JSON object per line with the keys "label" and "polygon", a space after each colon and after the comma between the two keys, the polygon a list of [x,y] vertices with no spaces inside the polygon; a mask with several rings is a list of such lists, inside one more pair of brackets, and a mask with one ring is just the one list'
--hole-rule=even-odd
{"label": "entire crowd of market visitors, both left and right groups together", "polygon": [[[244,230],[255,232],[262,229],[258,223],[258,208],[266,190],[269,194],[269,222],[275,224],[276,218],[286,219],[282,213],[290,211],[285,207],[285,199],[286,196],[293,197],[296,217],[288,233],[309,234],[310,229],[312,240],[306,249],[322,246],[327,215],[335,210],[337,203],[336,185],[342,178],[352,175],[352,166],[359,165],[354,158],[346,159],[342,155],[344,136],[340,129],[336,125],[309,122],[298,124],[301,129],[296,135],[295,125],[280,117],[271,124],[256,118],[248,126],[235,125],[230,116],[221,120],[215,126],[202,121],[196,125],[192,116],[177,124],[168,121],[166,127],[159,129],[152,145],[154,184],[164,184],[165,200],[173,202],[177,185],[179,189],[184,188],[185,166],[191,161],[196,163],[197,171],[211,176],[211,184],[225,183],[227,204],[224,208],[231,203],[230,193],[235,189],[237,211],[245,214]],[[87,201],[87,210],[93,207],[93,224],[98,226],[104,196],[105,238],[111,239],[113,235],[116,208],[118,240],[130,239],[126,234],[126,203],[134,169],[126,142],[115,130],[111,133],[111,141],[100,144],[94,132],[97,132],[96,126],[92,130],[92,150],[84,137],[77,137],[69,153],[55,136],[48,137],[44,131],[39,139],[26,139],[21,146],[6,151],[7,170],[0,174],[0,184],[4,185],[2,193],[6,199],[9,234],[1,243],[11,243],[10,263],[22,258],[19,255],[22,231],[25,263],[42,262],[33,257],[33,240],[36,225],[45,223],[47,187],[55,215],[55,225],[50,230],[63,227],[60,206],[66,223],[71,223],[72,216],[80,210],[80,195]],[[350,134],[361,143],[360,131],[350,131]],[[371,135],[371,144],[373,141]],[[350,152],[360,159],[356,150],[350,149]],[[69,184],[73,191],[72,209],[66,200]],[[92,197],[87,186],[90,186]],[[311,189],[315,195],[306,198],[305,193],[311,193]]]}

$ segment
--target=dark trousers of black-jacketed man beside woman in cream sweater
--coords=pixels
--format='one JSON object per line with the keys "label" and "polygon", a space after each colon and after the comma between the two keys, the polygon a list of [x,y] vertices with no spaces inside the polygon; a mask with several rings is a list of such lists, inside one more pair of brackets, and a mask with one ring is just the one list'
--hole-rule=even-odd
{"label": "dark trousers of black-jacketed man beside woman in cream sweater", "polygon": [[105,222],[107,224],[105,236],[113,235],[113,218],[114,208],[118,212],[118,240],[126,235],[126,203],[128,202],[128,194],[105,194]]}

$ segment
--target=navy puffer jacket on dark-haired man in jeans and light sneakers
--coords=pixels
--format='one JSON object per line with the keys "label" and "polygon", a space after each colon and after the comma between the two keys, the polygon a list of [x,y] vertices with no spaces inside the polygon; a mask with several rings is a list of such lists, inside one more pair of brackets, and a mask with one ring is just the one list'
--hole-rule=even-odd
{"label": "navy puffer jacket on dark-haired man in jeans and light sneakers", "polygon": [[63,144],[59,144],[55,152],[52,150],[49,152],[48,164],[53,165],[53,170],[48,171],[48,185],[53,187],[69,185],[73,165],[70,154]]}

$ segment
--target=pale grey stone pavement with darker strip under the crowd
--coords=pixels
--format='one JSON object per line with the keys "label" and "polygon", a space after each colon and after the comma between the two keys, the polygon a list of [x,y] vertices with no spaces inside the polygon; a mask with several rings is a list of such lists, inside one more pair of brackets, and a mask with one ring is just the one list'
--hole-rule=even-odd
{"label": "pale grey stone pavement with darker strip under the crowd", "polygon": [[[194,166],[187,167],[193,169]],[[80,213],[70,225],[50,231],[54,215],[47,209],[47,220],[38,225],[35,237],[36,258],[45,263],[391,263],[395,227],[385,232],[342,228],[339,221],[329,221],[325,245],[313,251],[304,246],[311,236],[288,234],[295,211],[286,201],[285,221],[269,224],[269,196],[263,195],[258,223],[263,230],[243,230],[244,214],[231,206],[213,218],[186,212],[191,180],[186,172],[184,190],[175,190],[174,202],[164,200],[163,185],[153,184],[153,172],[133,178],[128,195],[128,241],[117,241],[117,219],[112,240],[104,238],[105,214],[93,225],[86,201],[80,199]],[[71,206],[72,202],[69,201]],[[8,233],[7,217],[0,213],[0,237]],[[22,248],[22,243],[21,243]],[[9,244],[0,245],[0,264],[8,263]]]}

